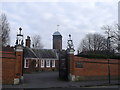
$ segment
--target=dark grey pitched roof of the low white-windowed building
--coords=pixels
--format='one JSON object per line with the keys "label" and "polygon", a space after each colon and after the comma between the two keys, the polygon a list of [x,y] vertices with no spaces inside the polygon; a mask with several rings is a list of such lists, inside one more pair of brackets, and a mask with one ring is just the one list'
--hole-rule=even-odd
{"label": "dark grey pitched roof of the low white-windowed building", "polygon": [[57,59],[57,51],[55,49],[33,49],[33,48],[24,48],[24,57],[25,58],[49,58]]}

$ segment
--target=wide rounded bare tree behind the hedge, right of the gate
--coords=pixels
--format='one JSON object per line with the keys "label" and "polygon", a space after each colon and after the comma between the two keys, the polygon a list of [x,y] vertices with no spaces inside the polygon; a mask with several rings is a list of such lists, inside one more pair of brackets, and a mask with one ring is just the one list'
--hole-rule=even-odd
{"label": "wide rounded bare tree behind the hedge, right of the gate", "polygon": [[101,34],[87,34],[80,43],[79,50],[82,52],[98,52],[107,48],[107,40]]}

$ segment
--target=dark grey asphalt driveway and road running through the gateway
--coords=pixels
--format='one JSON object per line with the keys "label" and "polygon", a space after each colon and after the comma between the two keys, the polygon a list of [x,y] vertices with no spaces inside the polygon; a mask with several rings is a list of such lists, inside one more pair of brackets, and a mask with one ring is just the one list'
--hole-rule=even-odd
{"label": "dark grey asphalt driveway and road running through the gateway", "polygon": [[62,81],[59,72],[35,72],[24,74],[24,82],[20,85],[3,85],[2,88],[119,88],[118,80],[106,81]]}

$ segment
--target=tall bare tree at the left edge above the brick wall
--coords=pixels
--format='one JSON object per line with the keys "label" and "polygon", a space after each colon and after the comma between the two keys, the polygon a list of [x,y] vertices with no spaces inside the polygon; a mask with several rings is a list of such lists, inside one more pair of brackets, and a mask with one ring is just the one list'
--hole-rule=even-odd
{"label": "tall bare tree at the left edge above the brick wall", "polygon": [[7,16],[5,14],[1,14],[0,16],[0,38],[2,41],[2,46],[6,46],[9,44],[10,38],[10,26],[7,20]]}

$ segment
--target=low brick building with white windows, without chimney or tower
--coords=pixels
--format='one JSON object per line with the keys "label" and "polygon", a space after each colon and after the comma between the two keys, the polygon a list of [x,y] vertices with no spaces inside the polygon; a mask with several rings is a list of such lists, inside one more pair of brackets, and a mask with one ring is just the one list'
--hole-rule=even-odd
{"label": "low brick building with white windows, without chimney or tower", "polygon": [[58,54],[54,49],[24,48],[24,72],[58,70]]}

